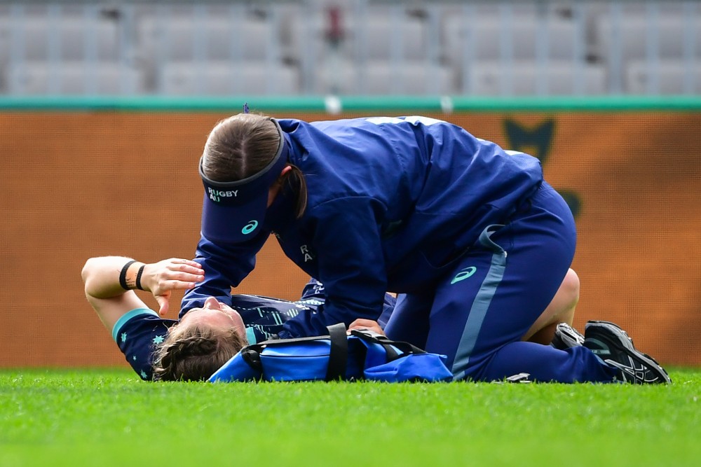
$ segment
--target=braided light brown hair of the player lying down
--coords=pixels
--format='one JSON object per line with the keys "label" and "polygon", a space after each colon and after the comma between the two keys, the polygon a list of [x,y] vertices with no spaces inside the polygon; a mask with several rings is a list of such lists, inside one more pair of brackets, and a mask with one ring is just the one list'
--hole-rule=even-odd
{"label": "braided light brown hair of the player lying down", "polygon": [[154,380],[202,381],[246,344],[236,328],[175,326],[154,356]]}

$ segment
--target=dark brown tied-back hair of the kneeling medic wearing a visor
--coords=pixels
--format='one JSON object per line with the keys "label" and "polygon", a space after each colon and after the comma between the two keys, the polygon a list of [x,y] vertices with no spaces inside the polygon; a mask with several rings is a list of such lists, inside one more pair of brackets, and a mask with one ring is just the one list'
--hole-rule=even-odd
{"label": "dark brown tied-back hair of the kneeling medic wearing a visor", "polygon": [[[257,174],[270,163],[278,151],[280,134],[271,117],[255,113],[238,115],[219,121],[210,132],[203,151],[202,171],[213,181],[238,181]],[[299,167],[287,163],[292,170],[276,183],[292,189],[297,196],[295,214],[304,214],[307,188]]]}

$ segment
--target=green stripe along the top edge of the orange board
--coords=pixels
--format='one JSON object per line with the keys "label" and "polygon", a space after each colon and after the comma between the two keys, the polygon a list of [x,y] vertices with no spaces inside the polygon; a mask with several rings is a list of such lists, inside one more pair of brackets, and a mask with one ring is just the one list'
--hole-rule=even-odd
{"label": "green stripe along the top edge of the orange board", "polygon": [[0,111],[701,111],[701,96],[665,97],[0,97]]}

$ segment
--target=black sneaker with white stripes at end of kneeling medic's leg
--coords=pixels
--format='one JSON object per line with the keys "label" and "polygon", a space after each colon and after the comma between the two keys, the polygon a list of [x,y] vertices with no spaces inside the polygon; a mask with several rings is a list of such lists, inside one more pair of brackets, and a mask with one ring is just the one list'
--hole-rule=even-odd
{"label": "black sneaker with white stripes at end of kneeling medic's leg", "polygon": [[667,372],[654,358],[633,346],[633,340],[614,323],[588,321],[584,328],[584,347],[608,365],[620,370],[623,382],[631,384],[671,383]]}

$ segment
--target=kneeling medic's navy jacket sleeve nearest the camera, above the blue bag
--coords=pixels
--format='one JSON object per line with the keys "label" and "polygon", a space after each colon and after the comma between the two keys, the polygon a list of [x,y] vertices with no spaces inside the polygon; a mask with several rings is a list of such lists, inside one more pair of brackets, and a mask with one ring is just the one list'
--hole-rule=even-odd
{"label": "kneeling medic's navy jacket sleeve nearest the camera, above the blue bag", "polygon": [[378,222],[384,211],[370,197],[339,198],[313,209],[313,248],[325,303],[287,321],[280,337],[325,335],[331,324],[379,318],[387,288]]}

